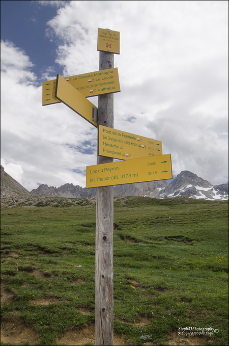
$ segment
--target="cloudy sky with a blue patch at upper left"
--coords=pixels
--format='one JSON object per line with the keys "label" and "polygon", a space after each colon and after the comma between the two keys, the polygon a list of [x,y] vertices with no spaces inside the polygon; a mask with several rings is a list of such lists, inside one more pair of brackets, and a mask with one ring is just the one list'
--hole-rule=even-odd
{"label": "cloudy sky with a blue patch at upper left", "polygon": [[[98,28],[120,32],[114,128],[162,141],[173,178],[228,181],[227,1],[1,1],[1,165],[28,191],[85,187],[97,129],[42,82],[99,70]],[[98,96],[90,101],[98,105]]]}

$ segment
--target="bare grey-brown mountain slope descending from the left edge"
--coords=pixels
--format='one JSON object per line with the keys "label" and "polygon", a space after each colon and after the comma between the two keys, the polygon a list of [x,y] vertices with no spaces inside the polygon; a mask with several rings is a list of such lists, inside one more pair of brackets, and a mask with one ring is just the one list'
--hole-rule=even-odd
{"label": "bare grey-brown mountain slope descending from the left edge", "polygon": [[29,195],[28,192],[17,180],[12,178],[5,172],[3,166],[1,166],[1,198],[7,198],[12,196]]}

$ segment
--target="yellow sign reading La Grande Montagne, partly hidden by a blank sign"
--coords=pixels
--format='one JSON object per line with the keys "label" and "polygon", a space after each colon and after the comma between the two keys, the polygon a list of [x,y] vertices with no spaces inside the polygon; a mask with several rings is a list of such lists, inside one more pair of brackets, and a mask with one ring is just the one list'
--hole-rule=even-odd
{"label": "yellow sign reading La Grande Montagne, partly hidden by a blank sign", "polygon": [[[118,68],[77,74],[64,78],[85,97],[120,91]],[[55,98],[56,79],[42,83],[42,105],[60,102]]]}

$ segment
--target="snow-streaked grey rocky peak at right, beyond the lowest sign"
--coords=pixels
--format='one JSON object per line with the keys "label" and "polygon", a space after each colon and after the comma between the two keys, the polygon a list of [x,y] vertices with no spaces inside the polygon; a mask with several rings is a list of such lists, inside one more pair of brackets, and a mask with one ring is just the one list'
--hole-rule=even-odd
{"label": "snow-streaked grey rocky peak at right, beyond the lowest sign", "polygon": [[208,200],[228,199],[228,182],[212,185],[209,181],[199,178],[189,171],[182,171],[178,176],[159,191],[157,198],[185,196]]}

